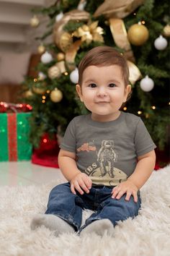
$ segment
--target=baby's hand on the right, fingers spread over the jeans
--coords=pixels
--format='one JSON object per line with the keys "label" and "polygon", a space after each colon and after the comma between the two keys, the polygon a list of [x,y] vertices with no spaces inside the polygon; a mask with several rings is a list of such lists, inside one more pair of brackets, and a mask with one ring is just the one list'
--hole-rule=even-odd
{"label": "baby's hand on the right, fingers spread over the jeans", "polygon": [[136,187],[135,184],[127,180],[126,182],[122,182],[112,189],[112,198],[116,198],[117,200],[119,200],[122,195],[126,194],[125,200],[129,201],[130,196],[133,195],[134,202],[138,202],[137,192],[138,187]]}

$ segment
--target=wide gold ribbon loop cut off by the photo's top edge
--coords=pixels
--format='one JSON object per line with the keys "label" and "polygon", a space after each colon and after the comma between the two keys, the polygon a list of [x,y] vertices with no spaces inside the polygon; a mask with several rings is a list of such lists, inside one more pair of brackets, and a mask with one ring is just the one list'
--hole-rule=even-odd
{"label": "wide gold ribbon loop cut off by the photo's top edge", "polygon": [[107,18],[122,19],[140,7],[143,2],[144,0],[105,0],[94,12],[94,17],[104,15]]}

